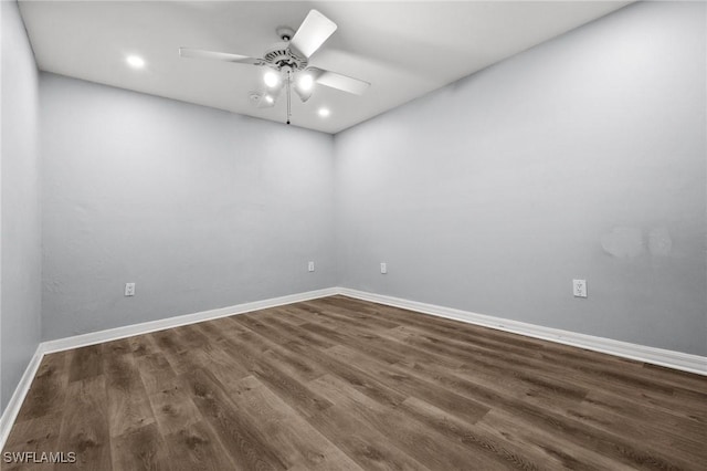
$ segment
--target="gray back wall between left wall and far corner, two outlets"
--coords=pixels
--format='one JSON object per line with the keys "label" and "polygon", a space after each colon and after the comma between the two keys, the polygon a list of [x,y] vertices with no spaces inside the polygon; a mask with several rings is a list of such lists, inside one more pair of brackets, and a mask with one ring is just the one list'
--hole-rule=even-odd
{"label": "gray back wall between left wall and far corner, two outlets", "polygon": [[335,285],[330,135],[44,73],[41,101],[44,339]]}

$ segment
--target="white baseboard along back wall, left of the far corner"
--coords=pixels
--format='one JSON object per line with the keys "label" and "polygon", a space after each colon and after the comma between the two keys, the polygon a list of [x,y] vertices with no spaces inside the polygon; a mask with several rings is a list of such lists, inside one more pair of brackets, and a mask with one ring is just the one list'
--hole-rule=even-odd
{"label": "white baseboard along back wall, left of the far corner", "polygon": [[325,290],[307,291],[304,293],[289,294],[287,296],[272,297],[270,300],[236,304],[234,306],[220,307],[218,310],[202,311],[194,314],[161,318],[159,321],[144,322],[140,324],[108,328],[107,331],[92,332],[89,334],[75,335],[73,337],[44,342],[44,352],[53,353],[85,347],[87,345],[117,341],[118,338],[131,337],[134,335],[163,331],[166,328],[179,327],[182,325],[194,324],[198,322],[210,321],[219,317],[228,317],[235,314],[244,314],[252,311],[266,310],[268,307],[282,306],[284,304],[298,303],[300,301],[316,300],[317,297],[333,296],[335,294],[338,294],[338,289],[328,287]]}

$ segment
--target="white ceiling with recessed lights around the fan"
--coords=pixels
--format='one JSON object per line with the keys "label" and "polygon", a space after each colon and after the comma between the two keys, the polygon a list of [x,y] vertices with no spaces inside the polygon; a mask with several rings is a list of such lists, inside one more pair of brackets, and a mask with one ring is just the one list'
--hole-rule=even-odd
{"label": "white ceiling with recessed lights around the fan", "polygon": [[[317,9],[338,30],[310,65],[372,84],[362,96],[325,86],[306,104],[293,95],[293,125],[337,133],[626,3],[21,1],[20,10],[43,71],[284,122],[284,100],[264,109],[249,100],[263,69],[180,59],[178,48],[262,57],[277,27],[296,30]],[[145,69],[128,67],[128,54]]]}

